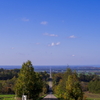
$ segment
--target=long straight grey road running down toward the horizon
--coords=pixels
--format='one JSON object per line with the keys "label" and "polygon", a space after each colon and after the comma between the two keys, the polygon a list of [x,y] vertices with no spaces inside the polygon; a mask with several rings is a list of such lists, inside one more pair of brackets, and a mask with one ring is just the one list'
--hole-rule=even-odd
{"label": "long straight grey road running down toward the horizon", "polygon": [[50,68],[50,81],[49,81],[49,94],[44,97],[42,100],[58,100],[53,94],[52,94],[52,76],[51,76],[51,68]]}

